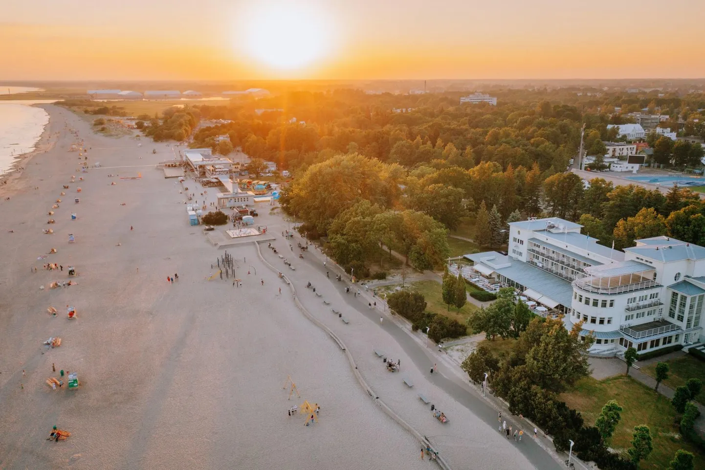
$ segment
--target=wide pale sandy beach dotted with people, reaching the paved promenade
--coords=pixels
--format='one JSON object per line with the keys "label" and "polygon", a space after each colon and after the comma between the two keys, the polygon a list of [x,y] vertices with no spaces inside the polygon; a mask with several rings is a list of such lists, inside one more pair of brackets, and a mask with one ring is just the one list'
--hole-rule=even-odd
{"label": "wide pale sandy beach dotted with people, reaching the paved promenade", "polygon": [[[138,147],[131,137],[94,135],[68,110],[44,107],[51,120],[37,151],[25,159],[22,174],[0,185],[1,469],[428,468],[417,441],[368,397],[341,350],[302,315],[254,243],[226,248],[242,287],[233,287],[232,279],[206,280],[224,250],[202,227],[188,225],[181,185],[154,167],[173,158],[170,145],[142,138]],[[89,162],[101,168],[77,171],[78,153],[68,152],[73,129],[90,147]],[[138,173],[140,180],[120,179]],[[192,180],[186,184],[195,199],[215,200],[215,188],[201,196]],[[47,215],[57,198],[60,207]],[[257,208],[255,223],[267,225],[277,238],[273,244],[288,251],[280,237],[286,222],[268,206]],[[78,219],[71,220],[72,212]],[[47,224],[49,218],[56,223]],[[54,234],[43,234],[46,228]],[[75,243],[68,243],[68,234]],[[47,255],[51,248],[58,253]],[[262,254],[267,263],[282,264],[266,243]],[[47,258],[38,260],[42,255]],[[514,442],[443,392],[427,366],[417,366],[380,328],[379,315],[388,313],[367,311],[367,301],[345,296],[316,254],[291,257],[298,269],[288,275],[305,307],[336,330],[364,378],[438,443],[454,469],[534,468]],[[43,270],[44,263],[63,271]],[[78,271],[78,285],[48,289],[52,281],[68,280],[69,265]],[[174,273],[178,280],[167,282]],[[305,289],[309,279],[348,325]],[[75,306],[78,319],[68,320],[67,305]],[[49,315],[49,306],[59,315]],[[45,347],[49,337],[61,337],[61,347]],[[400,359],[403,373],[388,373],[373,347]],[[59,377],[59,370],[77,372],[81,387],[51,390],[45,380]],[[413,390],[401,374],[414,381]],[[288,375],[300,399],[288,400]],[[452,422],[436,421],[418,392]],[[305,399],[321,406],[314,426],[288,416],[290,406]],[[45,440],[55,425],[71,437]]]}

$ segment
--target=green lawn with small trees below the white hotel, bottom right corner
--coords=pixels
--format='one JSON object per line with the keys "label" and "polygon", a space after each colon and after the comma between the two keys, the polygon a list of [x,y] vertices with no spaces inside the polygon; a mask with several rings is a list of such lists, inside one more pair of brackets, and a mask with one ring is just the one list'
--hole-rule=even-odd
{"label": "green lawn with small trees below the white hotel, bottom right corner", "polygon": [[705,470],[705,454],[680,440],[675,423],[675,409],[668,398],[641,382],[618,375],[605,380],[588,377],[577,382],[575,389],[560,395],[571,408],[582,413],[585,423],[594,424],[602,406],[611,399],[623,407],[622,420],[611,440],[611,447],[626,452],[631,447],[635,426],[645,424],[651,430],[654,450],[649,459],[639,463],[640,470],[665,470],[678,449],[695,455],[695,469]]}

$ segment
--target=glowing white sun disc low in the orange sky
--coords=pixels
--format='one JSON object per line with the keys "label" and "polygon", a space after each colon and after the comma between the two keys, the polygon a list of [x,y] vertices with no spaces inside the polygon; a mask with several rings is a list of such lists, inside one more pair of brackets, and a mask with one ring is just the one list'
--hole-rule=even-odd
{"label": "glowing white sun disc low in the orange sky", "polygon": [[267,2],[253,6],[242,19],[239,48],[272,68],[304,68],[331,49],[329,22],[313,8]]}

